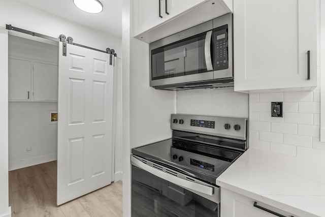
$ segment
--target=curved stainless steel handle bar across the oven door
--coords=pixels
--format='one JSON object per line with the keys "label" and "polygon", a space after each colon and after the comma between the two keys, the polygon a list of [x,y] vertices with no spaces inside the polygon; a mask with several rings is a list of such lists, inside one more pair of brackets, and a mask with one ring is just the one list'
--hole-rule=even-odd
{"label": "curved stainless steel handle bar across the oven door", "polygon": [[213,188],[211,188],[211,187],[208,187],[203,184],[198,184],[198,183],[195,183],[192,181],[187,181],[185,179],[178,178],[177,176],[173,176],[168,173],[161,172],[160,170],[154,169],[154,168],[146,165],[145,163],[136,159],[134,156],[131,157],[131,162],[133,163],[133,165],[135,165],[135,166],[137,166],[137,167],[139,167],[155,176],[158,176],[159,178],[162,178],[162,179],[165,179],[166,181],[170,181],[174,184],[177,184],[182,188],[192,190],[192,191],[197,191],[197,192],[207,194],[210,196],[213,195]]}

